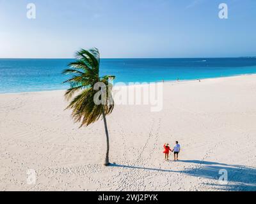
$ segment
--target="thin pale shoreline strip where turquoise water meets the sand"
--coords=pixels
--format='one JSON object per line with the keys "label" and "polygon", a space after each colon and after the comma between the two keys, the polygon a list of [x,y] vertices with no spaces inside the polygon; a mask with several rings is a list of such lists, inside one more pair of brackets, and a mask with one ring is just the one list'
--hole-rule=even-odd
{"label": "thin pale shoreline strip where turquoise water meets the sand", "polygon": [[[232,75],[232,76],[228,76],[228,77],[211,77],[211,78],[198,78],[198,79],[191,79],[191,80],[164,80],[164,84],[169,83],[169,84],[184,84],[184,83],[188,83],[188,82],[198,82],[198,80],[201,80],[201,82],[204,80],[220,80],[220,79],[225,79],[225,78],[234,78],[234,77],[243,77],[243,76],[256,76],[256,73],[252,73],[252,74],[243,74],[243,75]],[[117,82],[116,84],[118,84],[120,82]],[[123,83],[123,82],[121,82]],[[140,83],[140,84],[135,84],[135,83]],[[143,85],[142,83],[147,83],[147,84],[158,84],[158,83],[163,83],[163,82],[127,82],[125,83],[126,85],[116,85],[118,87],[129,87],[132,85]],[[115,87],[115,84],[114,84]],[[44,93],[44,92],[60,92],[60,91],[66,91],[67,89],[52,89],[52,90],[43,90],[43,91],[28,91],[28,92],[4,92],[1,93],[0,95],[8,95],[8,94],[31,94],[31,93]]]}

